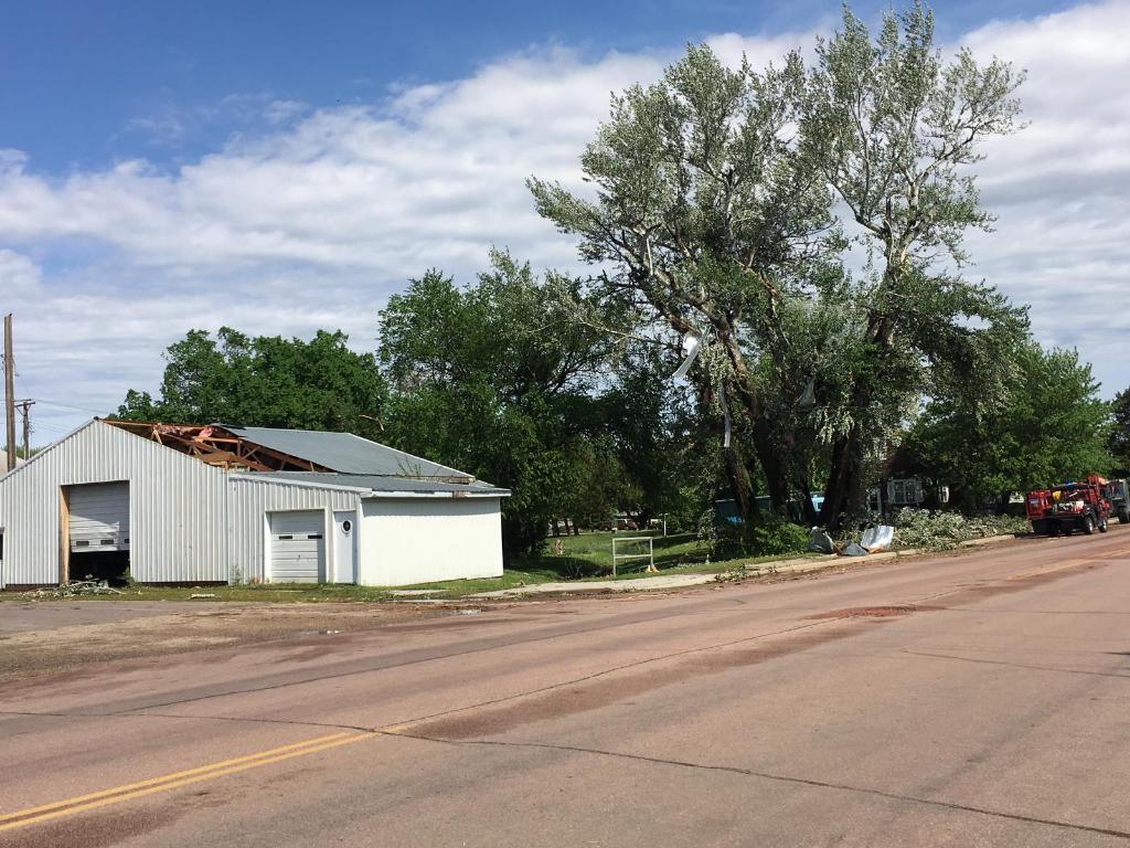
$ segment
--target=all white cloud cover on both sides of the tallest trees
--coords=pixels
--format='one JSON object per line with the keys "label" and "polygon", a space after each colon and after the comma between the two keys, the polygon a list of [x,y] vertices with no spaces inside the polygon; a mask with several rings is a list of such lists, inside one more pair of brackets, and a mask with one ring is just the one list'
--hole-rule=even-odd
{"label": "all white cloud cover on both sides of the tallest trees", "polygon": [[[963,40],[1029,71],[1031,127],[988,147],[981,167],[1000,220],[996,235],[973,240],[974,272],[1033,303],[1037,330],[1078,344],[1112,390],[1130,383],[1119,303],[1130,267],[1128,31],[1121,1]],[[811,35],[711,43],[759,66]],[[155,386],[160,351],[192,327],[342,327],[367,348],[376,310],[409,276],[438,266],[466,278],[492,245],[538,266],[575,265],[523,181],[581,185],[577,157],[610,93],[653,80],[679,50],[597,60],[531,50],[464,79],[316,111],[236,95],[216,115],[258,123],[174,171],[127,161],[52,176],[0,152],[0,280],[25,280],[0,289],[0,309],[10,303],[24,328],[26,391],[110,408],[127,387]],[[94,258],[73,259],[85,251]],[[68,261],[50,261],[60,253]],[[25,254],[50,270],[3,277],[31,262]]]}

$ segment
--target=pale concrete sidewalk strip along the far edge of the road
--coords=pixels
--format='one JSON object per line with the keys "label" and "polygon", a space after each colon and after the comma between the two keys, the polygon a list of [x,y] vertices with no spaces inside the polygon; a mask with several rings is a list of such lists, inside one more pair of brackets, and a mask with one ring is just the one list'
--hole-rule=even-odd
{"label": "pale concrete sidewalk strip along the far edge of the road", "polygon": [[[1012,542],[1016,536],[990,536],[983,539],[970,539],[963,542],[958,547],[974,547],[980,545],[991,545],[1000,542]],[[827,554],[823,556],[801,556],[790,560],[774,560],[773,562],[750,563],[741,566],[745,577],[770,577],[777,574],[809,574],[817,571],[840,568],[842,565],[861,565],[869,562],[880,562],[884,560],[896,560],[903,556],[916,554],[937,553],[933,551],[919,551],[916,548],[905,548],[902,551],[883,551],[867,556],[838,556]],[[703,586],[705,583],[718,582],[724,574],[731,572],[718,572],[714,574],[657,574],[655,577],[641,577],[627,580],[573,580],[567,582],[534,583],[532,586],[519,586],[513,589],[499,589],[498,591],[484,591],[477,595],[469,595],[470,598],[519,598],[531,595],[586,595],[591,592],[626,592],[626,591],[659,591],[663,589],[683,589],[688,586]]]}

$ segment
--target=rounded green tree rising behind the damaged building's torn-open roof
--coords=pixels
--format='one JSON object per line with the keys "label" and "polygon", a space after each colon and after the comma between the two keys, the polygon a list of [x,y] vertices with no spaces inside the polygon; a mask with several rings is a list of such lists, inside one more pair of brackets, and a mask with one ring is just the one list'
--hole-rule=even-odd
{"label": "rounded green tree rising behind the damaged building's torn-open roof", "polygon": [[191,330],[165,352],[160,396],[130,390],[121,418],[374,434],[388,390],[373,354],[342,332],[306,341]]}

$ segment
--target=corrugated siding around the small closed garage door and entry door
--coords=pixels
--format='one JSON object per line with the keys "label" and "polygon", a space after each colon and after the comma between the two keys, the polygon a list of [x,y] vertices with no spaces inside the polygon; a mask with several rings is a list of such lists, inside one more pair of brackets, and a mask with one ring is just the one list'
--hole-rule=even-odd
{"label": "corrugated siding around the small closed garage door and entry door", "polygon": [[[360,494],[348,490],[301,486],[254,477],[228,479],[228,562],[232,582],[267,580],[267,513],[298,510],[357,510]],[[332,516],[327,527],[332,527]],[[327,552],[329,562],[333,552]]]}

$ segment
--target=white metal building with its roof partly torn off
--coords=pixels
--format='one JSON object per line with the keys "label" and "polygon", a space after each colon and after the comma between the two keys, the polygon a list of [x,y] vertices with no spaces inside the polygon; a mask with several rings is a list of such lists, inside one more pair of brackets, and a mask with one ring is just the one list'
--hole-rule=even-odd
{"label": "white metal building with its roof partly torn off", "polygon": [[95,419],[0,477],[0,588],[495,577],[508,494],[346,433]]}

